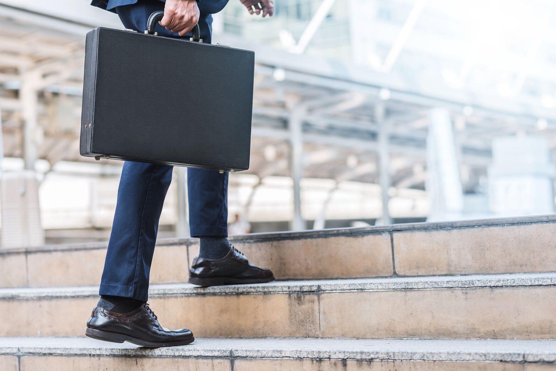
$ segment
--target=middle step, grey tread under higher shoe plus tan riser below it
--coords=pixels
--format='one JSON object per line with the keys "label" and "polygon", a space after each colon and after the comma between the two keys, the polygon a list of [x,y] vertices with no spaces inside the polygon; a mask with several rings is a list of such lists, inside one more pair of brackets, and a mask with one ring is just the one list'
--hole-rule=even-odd
{"label": "middle step, grey tread under higher shoe plus tan riser below it", "polygon": [[[0,336],[80,336],[96,287],[0,289]],[[198,337],[556,338],[556,273],[151,285]]]}

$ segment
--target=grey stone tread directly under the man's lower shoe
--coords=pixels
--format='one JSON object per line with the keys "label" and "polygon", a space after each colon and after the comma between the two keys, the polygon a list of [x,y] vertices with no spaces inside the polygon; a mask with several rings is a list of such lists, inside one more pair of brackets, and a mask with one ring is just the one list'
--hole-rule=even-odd
{"label": "grey stone tread directly under the man's lower shoe", "polygon": [[555,362],[556,339],[197,338],[149,349],[86,337],[30,337],[0,338],[0,354]]}

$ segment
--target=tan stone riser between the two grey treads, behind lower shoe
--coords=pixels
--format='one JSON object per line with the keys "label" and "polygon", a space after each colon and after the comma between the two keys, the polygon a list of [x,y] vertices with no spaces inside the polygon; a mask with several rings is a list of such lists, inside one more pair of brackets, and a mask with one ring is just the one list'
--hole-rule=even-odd
{"label": "tan stone riser between the two grey treads, behind lower shoe", "polygon": [[[0,336],[81,336],[97,298],[0,300]],[[556,287],[152,297],[196,337],[556,338]]]}

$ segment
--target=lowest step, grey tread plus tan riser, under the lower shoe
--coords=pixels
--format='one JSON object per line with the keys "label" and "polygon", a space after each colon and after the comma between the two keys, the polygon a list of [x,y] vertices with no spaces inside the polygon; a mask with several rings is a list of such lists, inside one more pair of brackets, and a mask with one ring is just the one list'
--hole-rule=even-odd
{"label": "lowest step, grey tread plus tan riser, under the lower shoe", "polygon": [[88,338],[0,338],[0,368],[214,371],[549,371],[556,340],[218,339],[137,348]]}

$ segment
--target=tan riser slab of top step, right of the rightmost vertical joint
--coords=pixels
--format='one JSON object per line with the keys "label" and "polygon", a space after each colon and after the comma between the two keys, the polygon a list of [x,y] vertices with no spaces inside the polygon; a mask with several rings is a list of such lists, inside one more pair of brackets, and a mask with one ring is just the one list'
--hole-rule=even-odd
{"label": "tan riser slab of top step, right of the rightmost vertical joint", "polygon": [[394,233],[399,275],[556,272],[556,223]]}

